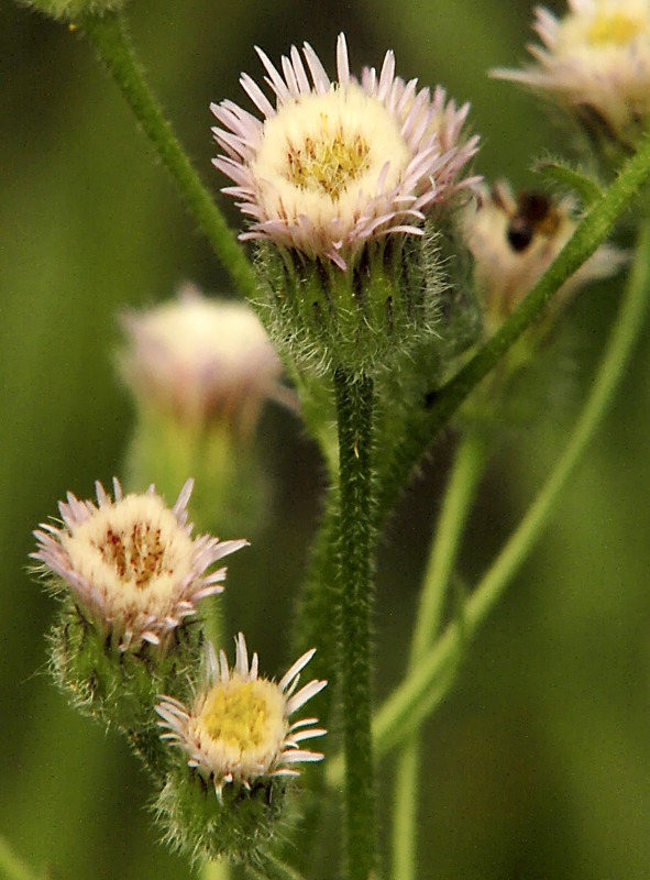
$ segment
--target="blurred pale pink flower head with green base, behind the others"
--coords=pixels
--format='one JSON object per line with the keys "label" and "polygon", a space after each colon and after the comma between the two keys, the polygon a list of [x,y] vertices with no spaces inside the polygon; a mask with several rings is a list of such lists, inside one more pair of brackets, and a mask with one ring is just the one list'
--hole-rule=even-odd
{"label": "blurred pale pink flower head with green base, behind the others", "polygon": [[267,506],[253,442],[262,408],[267,399],[296,406],[258,318],[243,302],[185,285],[177,299],[128,312],[122,323],[120,372],[137,410],[129,483],[168,491],[191,473],[201,528],[250,534]]}

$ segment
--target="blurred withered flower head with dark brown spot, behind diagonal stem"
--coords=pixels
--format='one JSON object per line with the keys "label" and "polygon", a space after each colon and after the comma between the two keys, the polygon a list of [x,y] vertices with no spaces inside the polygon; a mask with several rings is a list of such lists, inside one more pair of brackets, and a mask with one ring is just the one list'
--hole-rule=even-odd
{"label": "blurred withered flower head with dark brown spot, behind diagonal stem", "polygon": [[[477,207],[467,207],[464,234],[474,256],[475,282],[488,331],[497,329],[516,309],[576,226],[570,199],[529,190],[515,196],[504,182],[485,189]],[[565,302],[572,292],[590,280],[614,274],[624,260],[617,249],[602,245],[565,282],[553,304]]]}

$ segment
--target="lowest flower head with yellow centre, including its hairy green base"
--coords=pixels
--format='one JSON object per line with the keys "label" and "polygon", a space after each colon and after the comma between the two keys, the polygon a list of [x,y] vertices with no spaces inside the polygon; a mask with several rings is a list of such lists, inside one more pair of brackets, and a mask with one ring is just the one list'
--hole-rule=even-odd
{"label": "lowest flower head with yellow centre, including its hairy green base", "polygon": [[241,632],[235,644],[232,668],[223,651],[218,660],[208,646],[205,681],[191,706],[170,696],[156,706],[162,739],[181,752],[157,816],[169,843],[192,858],[254,857],[282,814],[285,779],[323,757],[302,747],[326,733],[317,719],[290,722],[327,684],[315,680],[298,690],[313,650],[274,682],[258,675],[257,654],[249,658]]}

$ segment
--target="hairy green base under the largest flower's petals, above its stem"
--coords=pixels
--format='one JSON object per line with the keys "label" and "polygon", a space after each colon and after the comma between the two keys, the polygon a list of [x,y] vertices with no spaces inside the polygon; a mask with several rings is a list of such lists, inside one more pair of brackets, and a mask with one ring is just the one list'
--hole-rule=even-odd
{"label": "hairy green base under the largest flower's petals, above its stem", "polygon": [[423,340],[434,340],[447,275],[440,233],[387,237],[345,271],[328,260],[257,248],[264,321],[298,369],[341,365],[377,376],[398,369]]}

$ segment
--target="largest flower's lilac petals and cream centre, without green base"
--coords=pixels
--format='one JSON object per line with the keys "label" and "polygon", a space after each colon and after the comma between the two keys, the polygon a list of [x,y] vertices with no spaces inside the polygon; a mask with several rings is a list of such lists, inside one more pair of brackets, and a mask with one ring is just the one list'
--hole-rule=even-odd
{"label": "largest flower's lilac petals and cream centre, without green base", "polygon": [[307,66],[293,46],[282,74],[257,54],[274,103],[246,74],[240,81],[264,119],[232,101],[211,106],[224,151],[214,165],[235,184],[223,191],[251,219],[242,239],[345,270],[367,242],[422,234],[426,212],[476,180],[456,179],[478,142],[460,138],[469,106],[456,110],[442,89],[431,99],[417,80],[405,82],[392,52],[381,74],[366,68],[361,82],[350,75],[343,34],[335,82],[308,43]]}

